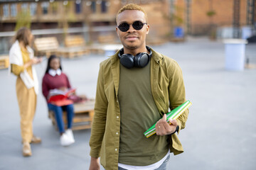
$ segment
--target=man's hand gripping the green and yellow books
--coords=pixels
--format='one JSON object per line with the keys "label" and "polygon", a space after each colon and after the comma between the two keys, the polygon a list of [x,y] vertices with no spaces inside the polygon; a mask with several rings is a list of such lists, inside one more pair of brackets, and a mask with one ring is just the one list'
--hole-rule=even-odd
{"label": "man's hand gripping the green and yellow books", "polygon": [[164,114],[163,118],[161,118],[156,123],[156,135],[164,136],[164,135],[170,135],[171,133],[175,132],[178,123],[176,120],[169,119],[171,125],[167,123],[166,121],[166,114]]}

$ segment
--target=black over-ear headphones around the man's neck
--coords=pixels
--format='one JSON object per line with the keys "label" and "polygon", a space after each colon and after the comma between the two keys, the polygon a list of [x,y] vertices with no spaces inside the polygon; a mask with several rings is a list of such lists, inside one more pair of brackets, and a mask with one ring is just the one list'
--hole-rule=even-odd
{"label": "black over-ear headphones around the man's neck", "polygon": [[146,46],[146,50],[149,51],[149,54],[146,52],[139,52],[137,55],[133,56],[131,54],[124,54],[124,48],[118,52],[118,57],[121,64],[130,69],[132,67],[145,67],[150,60],[152,55],[151,48]]}

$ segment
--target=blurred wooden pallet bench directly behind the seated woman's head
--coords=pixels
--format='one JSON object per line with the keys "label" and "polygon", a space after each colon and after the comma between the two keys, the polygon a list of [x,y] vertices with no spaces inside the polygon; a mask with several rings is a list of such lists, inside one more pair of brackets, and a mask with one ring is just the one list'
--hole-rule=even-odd
{"label": "blurred wooden pallet bench directly behind the seated woman's head", "polygon": [[34,41],[35,55],[58,55],[59,44],[55,37],[36,38]]}

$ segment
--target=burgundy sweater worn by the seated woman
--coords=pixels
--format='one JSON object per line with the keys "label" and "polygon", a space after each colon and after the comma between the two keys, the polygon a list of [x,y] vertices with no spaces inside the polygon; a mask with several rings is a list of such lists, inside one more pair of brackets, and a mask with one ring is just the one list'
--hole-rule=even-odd
{"label": "burgundy sweater worn by the seated woman", "polygon": [[43,96],[45,96],[46,98],[46,101],[49,91],[51,89],[59,89],[61,87],[66,87],[68,89],[71,88],[70,82],[68,81],[68,77],[66,76],[66,74],[61,73],[59,76],[58,74],[56,74],[55,77],[53,77],[50,74],[46,73],[43,76],[42,91]]}

